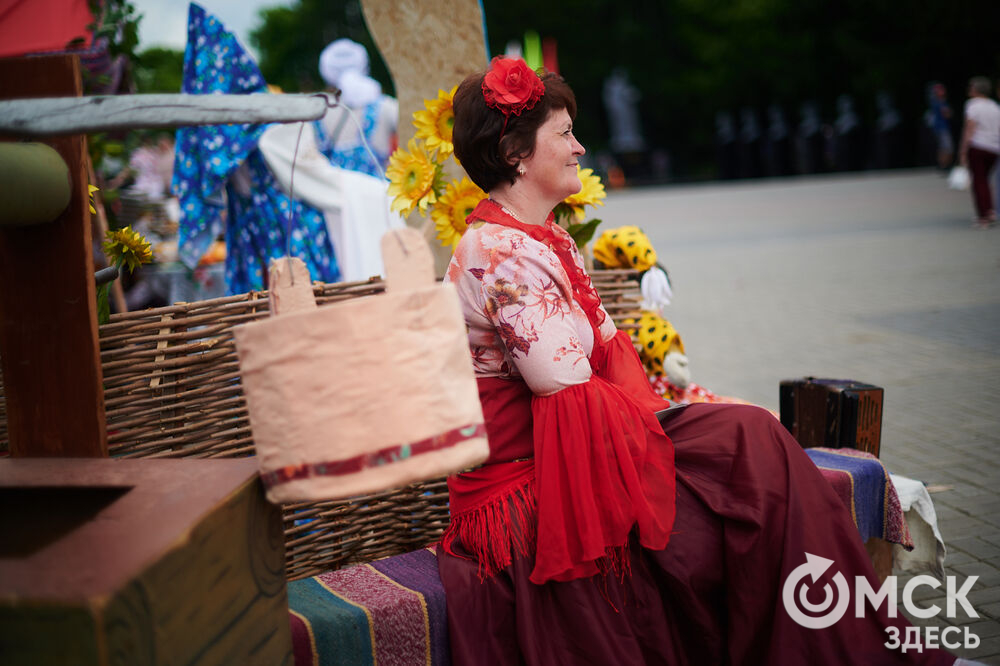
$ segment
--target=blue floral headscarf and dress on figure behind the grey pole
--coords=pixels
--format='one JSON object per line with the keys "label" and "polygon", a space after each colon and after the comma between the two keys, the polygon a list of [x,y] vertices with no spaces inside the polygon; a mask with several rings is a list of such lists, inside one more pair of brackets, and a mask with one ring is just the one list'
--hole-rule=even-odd
{"label": "blue floral headscarf and dress on figure behind the grey pole", "polygon": [[[188,11],[181,91],[267,92],[257,64],[236,37],[194,3]],[[267,125],[209,125],[177,130],[173,190],[181,207],[180,259],[193,268],[225,229],[230,294],[265,288],[269,261],[286,253],[289,199],[257,149],[266,129]],[[242,186],[234,184],[234,175]],[[291,255],[305,262],[312,279],[339,280],[323,215],[296,202],[292,224]]]}

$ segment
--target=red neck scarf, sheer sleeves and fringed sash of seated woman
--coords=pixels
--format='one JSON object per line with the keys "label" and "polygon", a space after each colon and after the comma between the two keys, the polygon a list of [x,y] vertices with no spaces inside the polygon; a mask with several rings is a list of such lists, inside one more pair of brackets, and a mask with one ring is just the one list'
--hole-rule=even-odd
{"label": "red neck scarf, sheer sleeves and fringed sash of seated woman", "polygon": [[551,215],[544,225],[527,225],[490,200],[469,220],[518,229],[559,258],[594,331],[593,376],[547,396],[533,395],[519,379],[479,379],[490,458],[449,479],[452,518],[443,547],[454,555],[458,539],[483,577],[533,553],[536,584],[615,568],[634,526],[642,546],[666,547],[673,444],[653,411],[667,403],[650,389],[627,335],[601,340],[606,315],[572,238]]}

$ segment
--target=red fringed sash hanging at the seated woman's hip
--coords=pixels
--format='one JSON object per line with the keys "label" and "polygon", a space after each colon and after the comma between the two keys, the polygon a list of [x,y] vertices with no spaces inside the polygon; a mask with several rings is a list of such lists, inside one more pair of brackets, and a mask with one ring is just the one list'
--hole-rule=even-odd
{"label": "red fringed sash hanging at the seated woman's hip", "polygon": [[[441,546],[454,557],[477,560],[479,580],[484,581],[509,566],[514,557],[534,555],[538,540],[535,507],[535,480],[529,478],[475,509],[452,516]],[[472,557],[456,553],[452,548],[456,541]]]}

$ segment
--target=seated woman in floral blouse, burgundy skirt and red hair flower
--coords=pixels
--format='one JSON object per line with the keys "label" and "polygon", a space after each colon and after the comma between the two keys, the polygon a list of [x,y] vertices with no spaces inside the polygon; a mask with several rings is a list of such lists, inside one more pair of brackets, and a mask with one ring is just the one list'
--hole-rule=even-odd
{"label": "seated woman in floral blouse, burgundy skirt and red hair flower", "polygon": [[[807,554],[879,583],[843,504],[767,411],[669,407],[552,209],[580,189],[576,102],[498,58],[454,97],[455,154],[489,198],[458,289],[490,440],[449,480],[439,548],[456,664],[952,664],[886,647],[886,605],[810,629],[783,584]],[[658,414],[659,412],[659,414]],[[853,598],[851,600],[853,602]]]}

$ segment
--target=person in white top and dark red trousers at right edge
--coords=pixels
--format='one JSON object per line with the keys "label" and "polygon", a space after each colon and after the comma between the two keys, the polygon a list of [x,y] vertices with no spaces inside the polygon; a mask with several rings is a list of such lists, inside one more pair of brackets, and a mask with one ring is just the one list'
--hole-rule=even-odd
{"label": "person in white top and dark red trousers at right edge", "polygon": [[959,157],[972,178],[972,202],[976,209],[974,225],[985,229],[996,223],[990,191],[990,171],[1000,155],[1000,105],[990,99],[990,81],[985,76],[969,80],[969,99],[965,103],[965,126]]}

